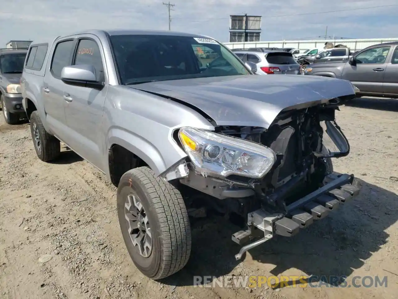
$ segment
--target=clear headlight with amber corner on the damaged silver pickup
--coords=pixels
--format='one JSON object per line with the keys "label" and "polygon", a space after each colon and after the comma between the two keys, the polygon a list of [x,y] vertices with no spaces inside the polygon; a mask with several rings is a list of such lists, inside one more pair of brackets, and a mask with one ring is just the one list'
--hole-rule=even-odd
{"label": "clear headlight with amber corner on the damaged silver pickup", "polygon": [[178,136],[202,175],[261,178],[276,161],[272,149],[248,140],[190,127],[181,128]]}

